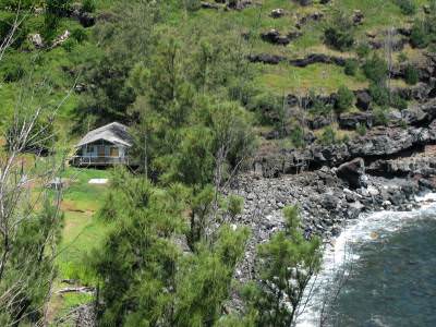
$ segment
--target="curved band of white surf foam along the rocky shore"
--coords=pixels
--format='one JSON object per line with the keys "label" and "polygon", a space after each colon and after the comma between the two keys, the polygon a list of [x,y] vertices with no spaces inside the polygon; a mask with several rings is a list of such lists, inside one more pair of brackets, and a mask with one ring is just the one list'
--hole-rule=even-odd
{"label": "curved band of white surf foam along the rocky shore", "polygon": [[320,325],[326,296],[335,296],[340,281],[348,276],[352,264],[359,261],[359,254],[351,252],[351,245],[385,238],[407,223],[436,216],[436,193],[416,197],[416,201],[422,203],[422,207],[413,211],[378,211],[361,216],[346,227],[336,240],[326,244],[320,272],[313,278],[303,296],[298,327]]}

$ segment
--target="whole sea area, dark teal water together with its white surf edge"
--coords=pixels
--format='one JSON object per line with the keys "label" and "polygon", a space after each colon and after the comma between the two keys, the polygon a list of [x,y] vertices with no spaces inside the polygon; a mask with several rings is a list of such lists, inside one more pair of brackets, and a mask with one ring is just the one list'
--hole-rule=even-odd
{"label": "whole sea area, dark teal water together with its white surf edge", "polygon": [[436,204],[360,218],[326,250],[296,326],[436,326]]}

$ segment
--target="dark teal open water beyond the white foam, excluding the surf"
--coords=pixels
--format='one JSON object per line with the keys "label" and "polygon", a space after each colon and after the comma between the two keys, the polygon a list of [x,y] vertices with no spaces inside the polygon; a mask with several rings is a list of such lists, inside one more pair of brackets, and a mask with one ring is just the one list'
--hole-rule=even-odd
{"label": "dark teal open water beyond the white foam, excluding the surf", "polygon": [[359,259],[328,312],[327,325],[436,326],[435,210],[422,215],[398,230],[350,244]]}

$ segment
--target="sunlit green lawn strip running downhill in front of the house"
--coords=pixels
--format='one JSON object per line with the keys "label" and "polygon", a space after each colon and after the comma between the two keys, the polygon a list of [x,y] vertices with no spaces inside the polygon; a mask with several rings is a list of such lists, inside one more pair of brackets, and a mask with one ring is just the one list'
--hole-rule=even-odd
{"label": "sunlit green lawn strip running downhill in front of the house", "polygon": [[[71,184],[63,194],[61,209],[64,213],[62,241],[57,257],[59,276],[56,290],[68,284],[62,279],[73,279],[80,286],[95,286],[96,277],[88,269],[87,256],[105,238],[108,227],[97,218],[107,185],[89,185],[89,179],[110,179],[110,171],[68,168],[63,174]],[[50,320],[61,317],[71,308],[93,300],[90,294],[55,294],[49,306]],[[63,326],[70,326],[68,323]]]}

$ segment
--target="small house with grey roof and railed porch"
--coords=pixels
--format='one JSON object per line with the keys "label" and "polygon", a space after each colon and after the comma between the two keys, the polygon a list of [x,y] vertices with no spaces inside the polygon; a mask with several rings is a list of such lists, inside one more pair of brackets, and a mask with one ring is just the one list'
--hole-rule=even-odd
{"label": "small house with grey roof and railed porch", "polygon": [[112,122],[87,133],[75,146],[71,165],[75,167],[130,166],[133,137],[128,126]]}

